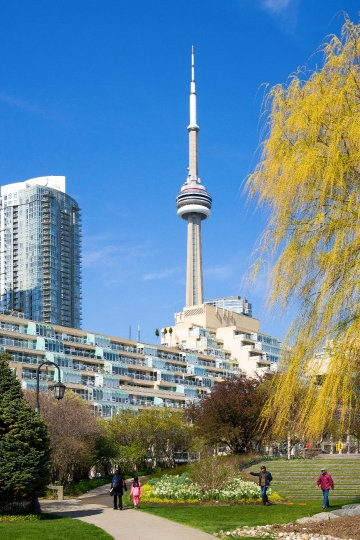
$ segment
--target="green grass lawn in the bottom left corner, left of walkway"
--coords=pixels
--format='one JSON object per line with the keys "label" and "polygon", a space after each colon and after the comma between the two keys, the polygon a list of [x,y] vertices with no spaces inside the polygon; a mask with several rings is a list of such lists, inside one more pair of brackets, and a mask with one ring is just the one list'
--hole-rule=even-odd
{"label": "green grass lawn in the bottom left corner, left of walkway", "polygon": [[[1,519],[1,516],[0,516]],[[113,540],[102,529],[77,519],[45,519],[35,521],[0,521],[0,538],[5,540]]]}

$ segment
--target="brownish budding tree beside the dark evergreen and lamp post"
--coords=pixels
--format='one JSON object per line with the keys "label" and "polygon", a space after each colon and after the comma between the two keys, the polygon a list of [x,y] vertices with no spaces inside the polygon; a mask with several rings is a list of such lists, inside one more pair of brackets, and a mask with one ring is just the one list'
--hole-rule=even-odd
{"label": "brownish budding tree beside the dark evergreen and lamp post", "polygon": [[[34,392],[26,392],[26,397],[34,403]],[[59,401],[48,392],[40,395],[40,414],[49,427],[52,481],[67,485],[87,477],[99,459],[102,434],[88,405],[74,392],[65,392]]]}

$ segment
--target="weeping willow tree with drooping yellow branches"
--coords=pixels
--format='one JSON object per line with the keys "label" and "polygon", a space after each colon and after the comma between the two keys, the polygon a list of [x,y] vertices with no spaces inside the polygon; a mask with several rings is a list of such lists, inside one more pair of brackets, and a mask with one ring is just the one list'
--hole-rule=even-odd
{"label": "weeping willow tree with drooping yellow branches", "polygon": [[298,313],[263,421],[283,432],[295,404],[308,439],[335,411],[346,429],[360,371],[360,25],[346,17],[341,38],[319,52],[320,68],[267,92],[261,156],[247,183],[269,211],[253,274],[270,261],[269,306],[296,304]]}

